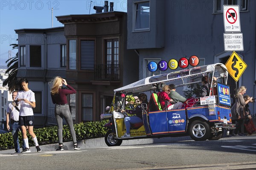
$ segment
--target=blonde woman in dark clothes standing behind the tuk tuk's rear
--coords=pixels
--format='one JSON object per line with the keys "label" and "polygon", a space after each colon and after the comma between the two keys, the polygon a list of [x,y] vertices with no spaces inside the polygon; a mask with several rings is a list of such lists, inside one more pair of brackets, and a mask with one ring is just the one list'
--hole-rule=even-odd
{"label": "blonde woman in dark clothes standing behind the tuk tuk's rear", "polygon": [[[238,134],[239,129],[241,128],[241,125],[243,123],[243,119],[244,119],[244,106],[248,103],[252,101],[252,97],[250,97],[247,101],[244,101],[244,97],[243,95],[246,93],[246,88],[244,86],[241,86],[240,88],[238,88],[238,90],[236,91],[236,102],[235,104],[232,106],[231,108],[231,113],[232,113],[232,119],[238,122],[236,125],[236,129],[234,131],[234,136],[240,136]],[[232,121],[233,122],[233,121]]]}

